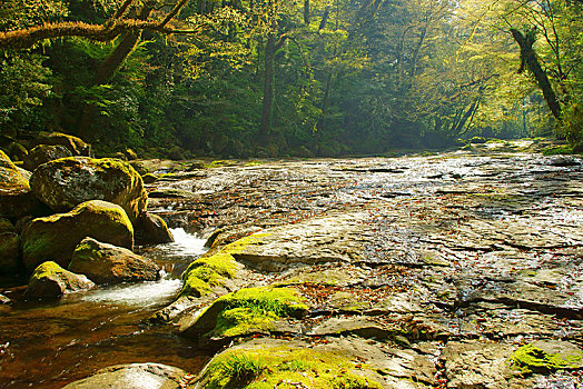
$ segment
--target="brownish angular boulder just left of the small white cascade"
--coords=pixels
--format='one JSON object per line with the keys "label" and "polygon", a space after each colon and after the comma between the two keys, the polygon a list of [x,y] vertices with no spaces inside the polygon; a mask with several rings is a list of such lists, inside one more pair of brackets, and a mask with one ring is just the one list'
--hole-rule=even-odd
{"label": "brownish angular boulder just left of the small white cascade", "polygon": [[160,267],[128,249],[85,238],[75,249],[69,270],[96,283],[155,281]]}

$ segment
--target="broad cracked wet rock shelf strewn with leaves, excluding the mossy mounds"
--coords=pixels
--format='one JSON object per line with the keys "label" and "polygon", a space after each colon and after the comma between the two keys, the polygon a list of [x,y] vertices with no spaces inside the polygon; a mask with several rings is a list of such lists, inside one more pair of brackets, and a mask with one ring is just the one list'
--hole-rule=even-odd
{"label": "broad cracked wet rock shelf strewn with leaves, excluding the mossy mounds", "polygon": [[[382,341],[394,350],[383,362],[396,369],[383,388],[575,387],[580,368],[511,367],[517,349],[541,339],[581,349],[582,178],[576,157],[266,162],[160,179],[150,189],[181,194],[150,209],[213,236],[208,256],[244,242],[229,251],[245,266],[234,288],[299,291],[307,315],[274,318],[255,337],[346,349]],[[189,299],[197,308],[167,317],[182,330],[210,306]],[[415,355],[425,368],[411,365]]]}

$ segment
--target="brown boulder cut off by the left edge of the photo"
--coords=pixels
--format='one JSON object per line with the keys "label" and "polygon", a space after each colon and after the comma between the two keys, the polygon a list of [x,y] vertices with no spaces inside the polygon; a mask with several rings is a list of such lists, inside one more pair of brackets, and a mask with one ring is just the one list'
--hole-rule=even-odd
{"label": "brown boulder cut off by the left edge of the photo", "polygon": [[21,218],[33,212],[38,205],[28,180],[0,150],[0,218]]}

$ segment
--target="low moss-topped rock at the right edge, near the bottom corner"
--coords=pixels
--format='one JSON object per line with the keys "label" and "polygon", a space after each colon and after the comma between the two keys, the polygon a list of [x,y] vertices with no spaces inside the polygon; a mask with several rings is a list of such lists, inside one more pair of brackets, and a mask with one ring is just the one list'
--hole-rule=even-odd
{"label": "low moss-topped rock at the right edge, near the bottom corner", "polygon": [[518,348],[511,358],[521,372],[550,372],[583,368],[583,350],[557,340],[540,340]]}

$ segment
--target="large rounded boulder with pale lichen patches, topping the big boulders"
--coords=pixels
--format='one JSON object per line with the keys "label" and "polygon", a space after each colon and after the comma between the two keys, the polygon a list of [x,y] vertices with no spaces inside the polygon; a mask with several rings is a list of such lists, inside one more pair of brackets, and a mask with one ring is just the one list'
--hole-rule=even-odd
{"label": "large rounded boulder with pale lichen patches, topping the big boulders", "polygon": [[140,174],[117,159],[63,158],[40,166],[30,178],[34,194],[57,212],[89,200],[123,208],[134,222],[146,210],[148,194]]}

